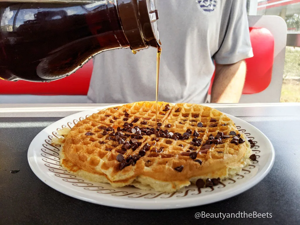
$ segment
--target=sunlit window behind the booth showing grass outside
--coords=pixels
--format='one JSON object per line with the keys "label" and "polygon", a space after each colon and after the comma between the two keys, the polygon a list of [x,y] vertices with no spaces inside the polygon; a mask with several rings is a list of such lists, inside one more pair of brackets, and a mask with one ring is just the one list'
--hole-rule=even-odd
{"label": "sunlit window behind the booth showing grass outside", "polygon": [[287,25],[282,102],[300,102],[300,0],[247,0],[248,15],[275,15]]}

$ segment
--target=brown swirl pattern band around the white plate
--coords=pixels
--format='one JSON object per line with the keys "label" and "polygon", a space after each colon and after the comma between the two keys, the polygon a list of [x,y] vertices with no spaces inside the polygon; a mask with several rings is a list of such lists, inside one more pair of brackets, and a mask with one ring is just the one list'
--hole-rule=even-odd
{"label": "brown swirl pattern band around the white plate", "polygon": [[[85,118],[87,118],[89,115],[86,115]],[[56,131],[61,130],[62,128],[72,128],[74,125],[76,125],[77,122],[82,121],[85,119],[84,117],[80,117],[78,120],[74,119],[72,122],[67,122],[67,125],[61,125],[61,128],[57,128]],[[255,146],[253,147],[253,152],[256,154],[257,159],[260,157],[260,155],[257,155],[260,153],[259,146],[256,145],[257,142],[254,141],[254,137],[250,137],[250,133],[246,133],[245,129],[241,129],[240,126],[236,126],[238,131],[243,133],[247,138],[250,140],[253,140],[255,143]],[[248,165],[247,167],[242,169],[242,174],[237,174],[234,178],[228,178],[222,180],[218,185],[214,187],[206,187],[206,188],[197,188],[195,185],[192,185],[191,188],[185,189],[185,190],[178,190],[173,193],[167,193],[167,192],[148,192],[148,193],[140,193],[140,192],[128,192],[125,190],[115,190],[115,189],[110,189],[110,188],[104,188],[103,186],[98,186],[96,184],[92,184],[90,182],[86,182],[85,180],[78,178],[77,176],[69,173],[67,170],[65,170],[63,167],[61,167],[60,164],[60,158],[59,158],[59,152],[61,150],[60,145],[51,145],[51,139],[53,137],[57,137],[56,135],[58,134],[56,131],[52,132],[52,135],[48,136],[48,139],[45,139],[45,143],[42,144],[41,148],[41,156],[42,161],[44,161],[44,165],[48,167],[48,170],[52,173],[54,173],[54,176],[57,176],[62,179],[64,182],[71,183],[75,187],[82,187],[83,190],[88,190],[88,191],[95,191],[96,193],[99,194],[110,194],[111,196],[127,196],[128,198],[143,198],[143,199],[154,199],[154,198],[161,198],[161,199],[166,199],[166,198],[182,198],[186,197],[189,194],[191,195],[199,195],[202,193],[202,191],[205,192],[212,192],[215,189],[220,189],[226,187],[226,185],[234,184],[236,180],[240,180],[244,178],[244,175],[247,175],[251,173],[251,170],[254,169],[256,166],[255,165]],[[257,164],[258,160],[253,161],[253,164]],[[99,183],[101,184],[101,183]],[[137,190],[140,190],[136,188]]]}

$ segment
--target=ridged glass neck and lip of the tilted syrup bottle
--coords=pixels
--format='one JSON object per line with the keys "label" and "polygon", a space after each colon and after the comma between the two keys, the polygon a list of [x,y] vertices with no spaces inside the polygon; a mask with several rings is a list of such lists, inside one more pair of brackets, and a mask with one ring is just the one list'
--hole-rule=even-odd
{"label": "ridged glass neck and lip of the tilted syrup bottle", "polygon": [[117,9],[131,49],[157,48],[158,11],[155,0],[117,0]]}

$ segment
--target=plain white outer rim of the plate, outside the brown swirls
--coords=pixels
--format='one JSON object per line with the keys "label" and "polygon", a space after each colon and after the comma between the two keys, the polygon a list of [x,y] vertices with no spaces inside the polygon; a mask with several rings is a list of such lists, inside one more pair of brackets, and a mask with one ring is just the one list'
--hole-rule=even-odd
{"label": "plain white outer rim of the plate, outside the brown swirls", "polygon": [[[95,107],[94,109],[90,109],[90,110],[85,110],[82,112],[78,112],[78,113],[74,113],[71,114],[69,116],[66,116],[62,119],[59,119],[58,121],[53,122],[51,125],[55,124],[55,123],[59,123],[60,121],[64,121],[66,118],[71,117],[73,118],[74,116],[76,116],[77,114],[82,114],[84,112],[93,112],[93,111],[98,111],[98,110],[103,110],[106,109],[108,107],[116,107],[116,106],[120,106],[123,104],[115,104],[115,105],[110,105],[110,106],[101,106],[101,107]],[[195,196],[195,199],[190,199],[190,198],[186,198],[186,199],[164,199],[164,203],[163,205],[161,204],[157,204],[157,203],[162,203],[160,201],[157,201],[155,199],[139,199],[138,201],[135,201],[135,199],[122,199],[122,198],[116,198],[114,199],[114,197],[112,196],[105,196],[105,195],[99,195],[99,197],[97,199],[92,199],[92,198],[88,198],[85,196],[81,196],[80,190],[76,190],[76,189],[71,189],[71,192],[68,192],[68,190],[70,190],[69,188],[67,188],[65,185],[53,181],[51,179],[45,180],[45,176],[46,173],[43,173],[42,170],[39,170],[39,166],[38,164],[34,163],[35,159],[31,160],[31,151],[30,149],[34,149],[34,145],[35,145],[35,140],[37,139],[38,136],[42,135],[41,133],[45,132],[45,130],[51,126],[47,126],[46,128],[44,128],[42,131],[40,131],[32,140],[32,142],[29,145],[28,148],[28,152],[27,152],[27,159],[28,159],[28,163],[29,166],[31,168],[31,170],[33,171],[33,173],[35,174],[35,176],[37,176],[42,182],[44,182],[45,184],[47,184],[49,187],[67,195],[67,196],[71,196],[73,198],[76,199],[80,199],[86,202],[91,202],[91,203],[95,203],[98,205],[106,205],[106,206],[111,206],[111,207],[117,207],[117,208],[128,208],[128,209],[141,209],[141,210],[145,210],[145,209],[150,209],[150,210],[155,210],[155,209],[175,209],[175,208],[187,208],[187,207],[192,207],[192,206],[199,206],[199,205],[206,205],[206,204],[210,204],[210,203],[214,203],[214,202],[218,202],[218,201],[222,201],[224,199],[228,199],[231,198],[233,196],[236,196],[248,189],[250,189],[251,187],[254,187],[256,184],[258,184],[262,179],[265,178],[265,176],[269,173],[269,171],[271,170],[273,164],[274,164],[274,158],[275,158],[275,151],[274,151],[274,147],[271,143],[271,141],[268,139],[268,137],[259,129],[257,129],[256,127],[254,127],[253,125],[251,125],[250,123],[232,116],[230,114],[224,113],[226,116],[228,116],[230,119],[234,118],[237,121],[241,121],[242,123],[247,123],[248,126],[250,126],[252,129],[254,129],[256,132],[262,134],[262,136],[264,137],[264,139],[267,141],[267,143],[269,144],[270,147],[270,153],[271,153],[271,158],[268,158],[266,161],[265,165],[262,165],[261,171],[259,171],[257,174],[259,174],[259,176],[257,177],[257,174],[253,177],[251,177],[250,179],[248,179],[246,182],[239,184],[236,188],[236,190],[232,191],[232,190],[225,190],[225,191],[221,191],[218,193],[214,193],[213,196],[208,196],[206,198],[201,199],[201,202],[197,202],[196,199],[197,197]],[[33,154],[32,154],[33,155]],[[266,167],[267,165],[267,167]],[[242,186],[241,186],[242,185]],[[76,195],[76,193],[78,193]],[[100,200],[101,199],[101,200]],[[176,204],[176,202],[178,204]],[[175,203],[175,204],[174,204]]]}

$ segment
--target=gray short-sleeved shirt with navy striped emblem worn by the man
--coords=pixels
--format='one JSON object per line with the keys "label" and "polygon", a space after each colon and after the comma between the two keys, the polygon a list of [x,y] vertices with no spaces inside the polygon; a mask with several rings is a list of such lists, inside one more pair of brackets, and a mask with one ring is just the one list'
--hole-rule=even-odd
{"label": "gray short-sleeved shirt with navy striped emblem worn by the man", "polygon": [[[158,12],[159,101],[205,102],[214,60],[232,64],[253,56],[244,0],[161,0]],[[156,53],[116,49],[97,55],[89,101],[155,101]]]}

